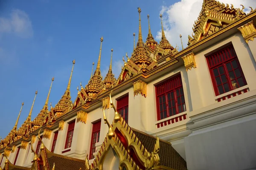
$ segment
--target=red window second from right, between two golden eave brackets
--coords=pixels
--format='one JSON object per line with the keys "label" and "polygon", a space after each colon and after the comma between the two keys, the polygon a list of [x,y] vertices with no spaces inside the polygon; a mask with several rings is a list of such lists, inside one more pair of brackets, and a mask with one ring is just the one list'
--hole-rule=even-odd
{"label": "red window second from right, between two golden eave brackets", "polygon": [[181,76],[156,86],[157,120],[186,111]]}

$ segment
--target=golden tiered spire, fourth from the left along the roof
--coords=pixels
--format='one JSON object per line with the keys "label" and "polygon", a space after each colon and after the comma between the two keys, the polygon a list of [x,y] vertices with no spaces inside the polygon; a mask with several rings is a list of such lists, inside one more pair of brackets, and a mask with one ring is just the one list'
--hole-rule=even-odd
{"label": "golden tiered spire, fourth from the left along the roof", "polygon": [[71,96],[70,96],[70,84],[71,84],[74,65],[76,63],[75,60],[73,60],[72,63],[73,63],[73,66],[70,74],[70,79],[67,84],[67,90],[65,91],[64,95],[61,97],[59,102],[55,105],[55,108],[53,108],[56,118],[69,112],[73,108],[73,103],[71,101]]}

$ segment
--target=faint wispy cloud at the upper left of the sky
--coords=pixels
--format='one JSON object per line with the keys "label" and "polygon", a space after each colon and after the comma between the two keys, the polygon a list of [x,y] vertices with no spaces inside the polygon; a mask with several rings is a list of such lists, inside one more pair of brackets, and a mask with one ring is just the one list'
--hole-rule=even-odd
{"label": "faint wispy cloud at the upper left of the sky", "polygon": [[33,29],[28,14],[19,9],[14,9],[9,18],[0,17],[1,33],[14,33],[22,38],[32,37]]}

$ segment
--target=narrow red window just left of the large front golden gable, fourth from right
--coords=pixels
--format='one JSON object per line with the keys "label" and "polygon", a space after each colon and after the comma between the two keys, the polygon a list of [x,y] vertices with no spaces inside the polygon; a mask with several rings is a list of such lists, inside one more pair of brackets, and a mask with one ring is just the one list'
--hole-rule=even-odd
{"label": "narrow red window just left of the large front golden gable, fourth from right", "polygon": [[91,146],[90,146],[90,158],[93,159],[93,153],[96,151],[95,144],[99,142],[99,133],[100,133],[100,124],[101,121],[93,123],[93,131],[92,131],[92,139],[91,139]]}

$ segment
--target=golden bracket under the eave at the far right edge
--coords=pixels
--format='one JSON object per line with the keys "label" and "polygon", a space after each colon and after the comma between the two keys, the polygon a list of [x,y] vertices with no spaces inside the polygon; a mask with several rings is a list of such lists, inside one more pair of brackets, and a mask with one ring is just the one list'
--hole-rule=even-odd
{"label": "golden bracket under the eave at the far right edge", "polygon": [[253,25],[253,21],[244,24],[243,26],[239,27],[238,30],[241,32],[246,43],[248,43],[249,40],[253,41],[256,37],[256,28]]}

